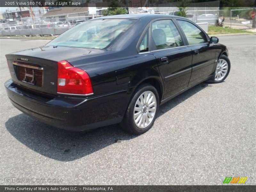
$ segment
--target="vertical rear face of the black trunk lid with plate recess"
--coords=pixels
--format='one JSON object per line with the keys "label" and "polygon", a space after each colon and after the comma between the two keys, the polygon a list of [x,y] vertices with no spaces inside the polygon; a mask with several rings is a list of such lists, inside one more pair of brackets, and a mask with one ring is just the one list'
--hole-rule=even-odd
{"label": "vertical rear face of the black trunk lid with plate recess", "polygon": [[45,94],[57,93],[55,61],[20,55],[6,55],[6,58],[14,83]]}

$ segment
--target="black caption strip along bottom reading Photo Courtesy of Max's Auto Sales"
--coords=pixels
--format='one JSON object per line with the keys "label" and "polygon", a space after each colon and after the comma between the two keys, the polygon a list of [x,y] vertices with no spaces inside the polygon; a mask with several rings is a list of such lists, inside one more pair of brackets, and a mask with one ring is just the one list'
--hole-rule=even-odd
{"label": "black caption strip along bottom reading Photo Courtesy of Max's Auto Sales", "polygon": [[[31,190],[32,189],[32,190]],[[8,185],[1,192],[252,192],[255,185]]]}

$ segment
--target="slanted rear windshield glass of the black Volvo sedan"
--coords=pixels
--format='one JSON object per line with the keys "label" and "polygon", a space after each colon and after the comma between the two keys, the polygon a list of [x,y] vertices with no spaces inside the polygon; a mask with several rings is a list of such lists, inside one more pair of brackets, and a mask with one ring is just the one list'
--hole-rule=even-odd
{"label": "slanted rear windshield glass of the black Volvo sedan", "polygon": [[97,19],[77,25],[47,45],[104,49],[122,35],[136,20]]}

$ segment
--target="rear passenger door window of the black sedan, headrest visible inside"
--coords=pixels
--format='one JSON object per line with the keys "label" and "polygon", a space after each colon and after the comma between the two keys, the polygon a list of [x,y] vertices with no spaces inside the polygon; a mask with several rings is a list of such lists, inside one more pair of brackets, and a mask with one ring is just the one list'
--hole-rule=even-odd
{"label": "rear passenger door window of the black sedan, headrest visible inside", "polygon": [[172,20],[153,22],[152,37],[157,49],[168,49],[184,45],[180,33]]}

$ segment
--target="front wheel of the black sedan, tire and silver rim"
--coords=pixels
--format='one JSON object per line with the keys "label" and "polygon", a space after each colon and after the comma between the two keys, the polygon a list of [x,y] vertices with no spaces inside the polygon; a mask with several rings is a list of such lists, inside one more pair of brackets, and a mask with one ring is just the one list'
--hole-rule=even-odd
{"label": "front wheel of the black sedan, tire and silver rim", "polygon": [[214,75],[210,80],[212,83],[221,83],[223,82],[230,71],[230,60],[226,55],[221,55],[218,60]]}

